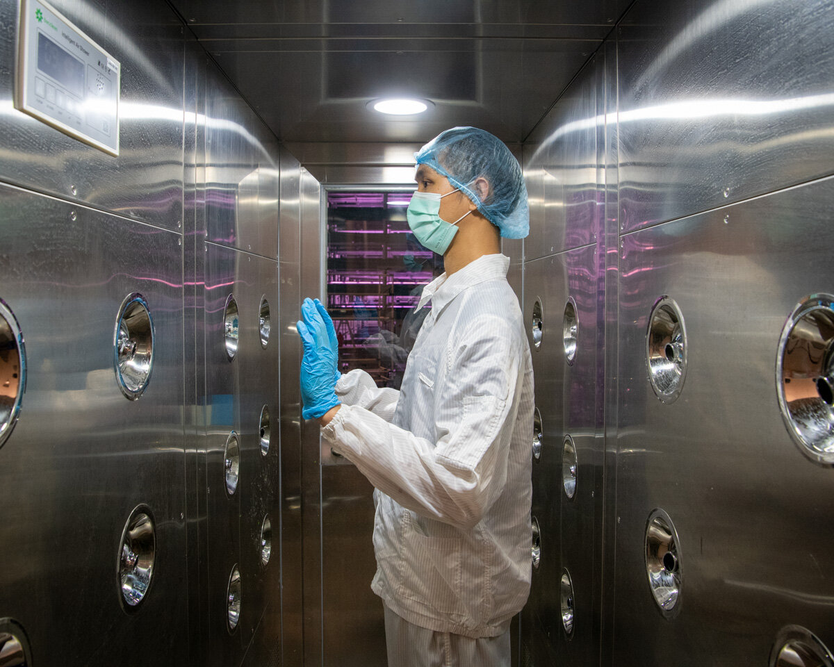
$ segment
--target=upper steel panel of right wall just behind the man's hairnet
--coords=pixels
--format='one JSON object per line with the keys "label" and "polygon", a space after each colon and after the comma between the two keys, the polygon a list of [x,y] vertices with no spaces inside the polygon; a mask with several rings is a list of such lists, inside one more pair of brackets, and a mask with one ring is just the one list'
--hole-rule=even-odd
{"label": "upper steel panel of right wall just behind the man's hairnet", "polygon": [[[595,54],[525,143],[530,236],[525,259],[595,243],[600,227],[597,109],[601,58]],[[529,156],[529,157],[528,157]]]}

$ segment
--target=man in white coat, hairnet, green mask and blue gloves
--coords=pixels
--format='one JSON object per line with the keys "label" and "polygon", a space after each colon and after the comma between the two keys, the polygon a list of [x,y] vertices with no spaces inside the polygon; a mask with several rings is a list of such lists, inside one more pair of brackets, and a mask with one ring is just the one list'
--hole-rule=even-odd
{"label": "man in white coat, hairnet, green mask and blue gloves", "polygon": [[500,236],[529,229],[524,178],[490,133],[452,128],[415,153],[409,227],[444,258],[401,389],[339,376],[333,324],[306,299],[304,419],[374,484],[372,588],[390,667],[510,664],[530,591],[533,372]]}

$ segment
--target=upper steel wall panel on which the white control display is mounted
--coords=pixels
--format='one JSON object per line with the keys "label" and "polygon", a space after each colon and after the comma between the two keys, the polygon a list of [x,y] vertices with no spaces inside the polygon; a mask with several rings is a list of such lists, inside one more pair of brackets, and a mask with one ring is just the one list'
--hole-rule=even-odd
{"label": "upper steel wall panel on which the white control display is mounted", "polygon": [[152,0],[55,5],[122,63],[121,153],[112,158],[13,107],[18,3],[3,3],[0,178],[177,230],[183,219],[182,26]]}

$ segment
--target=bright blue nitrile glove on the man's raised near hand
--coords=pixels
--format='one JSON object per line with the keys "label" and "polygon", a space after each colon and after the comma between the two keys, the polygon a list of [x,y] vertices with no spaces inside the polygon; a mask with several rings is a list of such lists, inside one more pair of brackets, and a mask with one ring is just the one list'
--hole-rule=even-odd
{"label": "bright blue nitrile glove on the man's raised near hand", "polygon": [[327,324],[309,298],[304,299],[301,314],[304,322],[295,323],[304,344],[300,378],[304,409],[301,415],[304,419],[313,419],[341,404],[335,391],[337,354],[330,349]]}

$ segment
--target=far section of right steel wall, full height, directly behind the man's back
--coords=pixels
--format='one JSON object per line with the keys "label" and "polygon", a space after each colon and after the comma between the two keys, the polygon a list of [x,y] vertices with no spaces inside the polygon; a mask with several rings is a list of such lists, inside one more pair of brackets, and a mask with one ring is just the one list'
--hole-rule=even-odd
{"label": "far section of right steel wall, full height, directly behind the man's back", "polygon": [[[520,661],[525,665],[595,664],[599,659],[604,82],[605,53],[600,52],[524,148],[530,236],[523,243],[520,296],[530,328],[541,425],[532,508],[540,531],[540,563],[521,614]],[[534,318],[541,320],[536,335]],[[565,449],[574,452],[572,470]],[[566,624],[563,597],[565,604],[570,598]]]}

